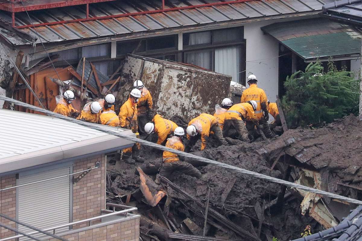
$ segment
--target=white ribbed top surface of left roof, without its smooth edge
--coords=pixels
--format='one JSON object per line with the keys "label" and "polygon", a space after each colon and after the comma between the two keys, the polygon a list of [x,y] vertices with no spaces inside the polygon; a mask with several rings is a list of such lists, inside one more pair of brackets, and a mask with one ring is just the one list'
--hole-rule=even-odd
{"label": "white ribbed top surface of left roof, without its smooth edge", "polygon": [[0,109],[0,120],[0,160],[109,135],[54,117],[5,109]]}

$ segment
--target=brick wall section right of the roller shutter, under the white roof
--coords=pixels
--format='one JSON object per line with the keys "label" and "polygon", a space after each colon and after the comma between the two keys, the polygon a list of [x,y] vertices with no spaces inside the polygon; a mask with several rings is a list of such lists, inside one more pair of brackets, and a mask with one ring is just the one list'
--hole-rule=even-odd
{"label": "brick wall section right of the roller shutter, under the white roof", "polygon": [[73,183],[73,221],[99,216],[101,210],[106,208],[105,155],[95,155],[75,161],[73,172],[94,167],[96,162],[101,163],[100,168],[91,170],[79,182]]}

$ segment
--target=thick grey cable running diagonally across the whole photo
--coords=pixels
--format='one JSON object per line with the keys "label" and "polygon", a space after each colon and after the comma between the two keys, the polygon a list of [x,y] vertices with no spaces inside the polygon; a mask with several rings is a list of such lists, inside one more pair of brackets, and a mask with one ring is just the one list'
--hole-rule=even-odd
{"label": "thick grey cable running diagonally across the whole photo", "polygon": [[187,157],[187,158],[190,158],[190,159],[198,160],[200,162],[204,162],[204,163],[207,163],[207,164],[212,164],[212,165],[215,165],[217,167],[227,168],[227,169],[230,169],[232,171],[240,172],[240,173],[252,176],[252,177],[260,178],[260,179],[270,181],[270,182],[274,182],[274,183],[277,183],[277,184],[282,184],[282,185],[290,186],[292,188],[297,188],[297,189],[309,191],[311,193],[316,193],[316,194],[324,195],[326,197],[338,199],[338,200],[341,200],[341,201],[346,201],[346,202],[349,202],[349,203],[355,203],[355,204],[358,204],[358,205],[362,205],[362,201],[359,201],[359,200],[356,200],[356,199],[353,199],[353,198],[348,198],[348,197],[344,197],[344,196],[337,195],[337,194],[334,194],[334,193],[329,193],[327,191],[322,191],[322,190],[310,188],[310,187],[307,187],[307,186],[303,186],[303,185],[300,185],[300,184],[295,184],[293,182],[281,180],[281,179],[271,177],[271,176],[267,176],[267,175],[264,175],[264,174],[261,174],[261,173],[257,173],[257,172],[249,171],[249,170],[246,170],[246,169],[243,169],[243,168],[234,167],[234,166],[229,165],[229,164],[217,162],[215,160],[210,160],[210,159],[207,159],[207,158],[203,158],[202,156],[196,156],[196,155],[186,153],[186,152],[183,152],[183,151],[174,150],[174,149],[171,149],[171,148],[168,148],[168,147],[165,147],[165,146],[158,145],[156,143],[152,143],[152,142],[149,142],[149,141],[138,139],[138,138],[133,137],[133,136],[125,135],[125,134],[122,134],[122,133],[119,133],[119,132],[114,132],[114,130],[106,129],[102,125],[94,125],[94,124],[91,124],[91,123],[88,123],[88,122],[83,122],[83,121],[80,121],[80,120],[72,119],[70,117],[60,115],[58,113],[47,111],[46,109],[42,109],[42,108],[39,108],[39,107],[36,107],[36,106],[32,106],[30,104],[21,102],[19,100],[14,100],[12,98],[8,98],[6,96],[0,96],[0,99],[1,100],[6,100],[6,101],[8,101],[10,103],[13,103],[13,104],[16,104],[17,106],[22,106],[22,107],[25,107],[25,108],[28,108],[28,109],[33,109],[34,111],[42,112],[42,113],[45,113],[45,114],[47,114],[49,116],[54,116],[54,117],[57,117],[59,119],[66,120],[66,121],[69,121],[69,122],[72,122],[72,123],[75,123],[75,124],[78,124],[78,125],[86,126],[86,127],[90,128],[90,129],[94,129],[94,130],[98,130],[98,131],[103,132],[103,133],[108,133],[108,134],[111,134],[111,135],[115,135],[117,137],[121,137],[123,139],[129,140],[129,141],[132,141],[132,142],[138,142],[138,143],[143,144],[145,146],[150,146],[150,147],[153,147],[153,148],[156,148],[156,149],[159,149],[159,150],[163,150],[163,151],[170,151],[170,152],[175,153],[175,154],[180,155],[180,156],[184,156],[184,157]]}

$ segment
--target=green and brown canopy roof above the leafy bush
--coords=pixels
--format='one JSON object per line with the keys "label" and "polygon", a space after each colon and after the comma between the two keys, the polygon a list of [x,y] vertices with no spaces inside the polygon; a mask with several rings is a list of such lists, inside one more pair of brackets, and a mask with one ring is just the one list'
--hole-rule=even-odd
{"label": "green and brown canopy roof above the leafy bush", "polygon": [[305,60],[356,55],[361,51],[360,33],[324,18],[274,23],[262,30]]}

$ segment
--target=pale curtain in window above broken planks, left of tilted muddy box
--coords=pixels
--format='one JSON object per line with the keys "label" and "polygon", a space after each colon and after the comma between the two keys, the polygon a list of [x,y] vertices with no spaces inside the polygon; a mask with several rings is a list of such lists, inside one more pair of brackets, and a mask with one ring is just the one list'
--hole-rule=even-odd
{"label": "pale curtain in window above broken planks, left of tilted muddy box", "polygon": [[[110,45],[109,44],[95,44],[90,46],[82,47],[82,57],[91,58],[91,57],[101,57],[109,56]],[[94,62],[93,63],[96,69],[98,69],[102,74],[108,75],[108,63],[107,62]]]}

